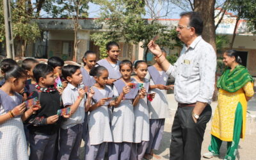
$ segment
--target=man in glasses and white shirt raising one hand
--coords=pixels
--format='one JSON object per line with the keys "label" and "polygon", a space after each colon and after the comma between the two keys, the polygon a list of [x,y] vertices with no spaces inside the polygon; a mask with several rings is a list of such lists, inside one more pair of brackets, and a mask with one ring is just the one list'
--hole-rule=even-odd
{"label": "man in glasses and white shirt raising one hand", "polygon": [[198,160],[207,122],[211,118],[214,92],[216,53],[202,39],[203,21],[196,12],[180,14],[176,31],[184,47],[172,65],[153,41],[148,48],[157,56],[157,63],[175,77],[174,95],[178,109],[172,126],[170,159]]}

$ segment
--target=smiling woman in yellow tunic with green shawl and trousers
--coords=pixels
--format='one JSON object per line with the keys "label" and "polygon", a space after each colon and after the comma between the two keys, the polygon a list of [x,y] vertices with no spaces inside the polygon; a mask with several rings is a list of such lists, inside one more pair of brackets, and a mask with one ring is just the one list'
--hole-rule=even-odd
{"label": "smiling woman in yellow tunic with green shawl and trousers", "polygon": [[225,159],[236,159],[240,138],[244,138],[247,101],[253,97],[253,78],[235,50],[225,51],[223,62],[227,69],[217,83],[219,89],[218,106],[212,118],[211,144],[204,157],[220,154],[222,141],[227,141]]}

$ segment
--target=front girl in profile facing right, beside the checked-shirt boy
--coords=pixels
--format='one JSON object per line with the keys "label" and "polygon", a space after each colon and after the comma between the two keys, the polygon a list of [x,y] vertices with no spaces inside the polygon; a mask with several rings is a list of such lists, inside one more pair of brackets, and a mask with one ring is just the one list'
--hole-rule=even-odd
{"label": "front girl in profile facing right, beside the checked-shirt boy", "polygon": [[89,106],[85,159],[104,159],[107,142],[113,141],[108,108],[117,106],[124,95],[120,95],[118,99],[109,102],[109,99],[113,97],[113,92],[106,87],[108,70],[105,67],[93,67],[90,70],[90,76],[94,77],[96,83],[92,86],[95,93],[92,97],[92,105]]}

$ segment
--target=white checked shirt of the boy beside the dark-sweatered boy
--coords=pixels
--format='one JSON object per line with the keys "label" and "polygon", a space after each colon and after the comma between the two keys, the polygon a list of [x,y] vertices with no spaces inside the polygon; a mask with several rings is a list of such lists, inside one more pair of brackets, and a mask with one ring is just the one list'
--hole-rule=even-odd
{"label": "white checked shirt of the boy beside the dark-sweatered boy", "polygon": [[[79,86],[78,86],[79,88]],[[63,100],[63,106],[72,106],[77,100],[77,97],[79,96],[78,88],[73,86],[72,84],[68,83],[67,87],[63,90],[63,93],[61,95],[61,98]],[[67,120],[64,120],[61,123],[62,129],[68,129],[70,127],[73,127],[77,124],[82,124],[84,122],[84,104],[85,104],[85,97],[81,100],[79,106],[77,107],[75,113],[72,114],[70,118]]]}

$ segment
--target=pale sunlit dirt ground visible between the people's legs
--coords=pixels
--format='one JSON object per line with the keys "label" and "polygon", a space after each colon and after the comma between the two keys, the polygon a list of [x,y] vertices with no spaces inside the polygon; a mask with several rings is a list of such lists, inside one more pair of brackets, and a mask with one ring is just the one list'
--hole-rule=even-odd
{"label": "pale sunlit dirt ground visible between the people's legs", "polygon": [[[212,112],[214,113],[214,109],[216,108],[216,103],[212,103]],[[173,123],[173,117],[175,114],[175,110],[172,109],[170,111],[171,118],[166,119],[166,124],[164,126],[164,135],[163,140],[161,143],[161,146],[159,150],[154,151],[155,154],[161,156],[161,159],[169,159],[170,157],[170,140],[171,140],[171,129],[172,129],[172,123]],[[239,143],[239,149],[237,152],[237,158],[240,160],[255,160],[256,159],[256,112],[255,115],[248,114],[247,117],[247,124],[246,124],[246,136],[244,140],[241,140]],[[211,120],[207,124],[207,128],[205,129],[204,134],[204,141],[202,144],[202,152],[201,154],[204,154],[205,152],[208,152],[207,148],[209,146],[209,143],[211,141]],[[220,156],[212,158],[213,160],[217,159],[223,159],[225,157],[225,153],[227,152],[227,143],[223,143],[221,145],[220,149]],[[84,142],[82,141],[81,144],[81,159],[84,159]],[[106,158],[107,159],[107,158]],[[152,158],[156,160],[156,158]],[[202,159],[205,159],[202,157]]]}

